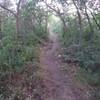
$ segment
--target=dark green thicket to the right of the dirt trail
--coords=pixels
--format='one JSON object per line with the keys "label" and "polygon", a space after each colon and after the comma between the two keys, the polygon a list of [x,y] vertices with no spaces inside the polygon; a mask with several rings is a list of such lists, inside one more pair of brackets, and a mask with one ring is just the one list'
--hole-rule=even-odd
{"label": "dark green thicket to the right of the dirt trail", "polygon": [[[95,18],[100,25],[100,14],[98,13]],[[69,17],[68,20],[67,31],[63,33],[61,39],[64,49],[64,62],[74,62],[79,64],[80,71],[78,78],[83,83],[88,83],[95,88],[91,94],[96,97],[96,100],[99,100],[100,30],[92,17],[90,17],[90,21],[93,30],[90,29],[90,25],[86,19],[82,22],[81,31],[79,29],[76,17]]]}

